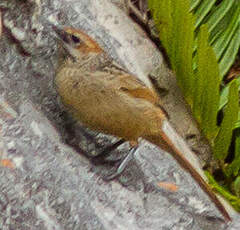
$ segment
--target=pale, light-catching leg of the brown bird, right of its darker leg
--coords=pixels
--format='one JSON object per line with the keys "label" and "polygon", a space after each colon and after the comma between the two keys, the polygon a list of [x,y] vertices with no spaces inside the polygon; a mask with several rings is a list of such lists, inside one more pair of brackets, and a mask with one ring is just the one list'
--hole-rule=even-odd
{"label": "pale, light-catching leg of the brown bird, right of its darker leg", "polygon": [[137,148],[138,148],[137,144],[131,147],[127,156],[123,159],[121,164],[118,166],[117,171],[111,175],[105,176],[103,179],[106,181],[109,181],[119,177],[122,174],[122,172],[126,169],[128,163],[134,158],[134,153],[136,152]]}

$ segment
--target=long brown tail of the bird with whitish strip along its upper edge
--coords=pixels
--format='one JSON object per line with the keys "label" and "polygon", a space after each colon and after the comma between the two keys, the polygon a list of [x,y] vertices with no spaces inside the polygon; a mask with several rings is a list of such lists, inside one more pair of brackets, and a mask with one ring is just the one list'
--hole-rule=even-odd
{"label": "long brown tail of the bird with whitish strip along its upper edge", "polygon": [[145,139],[169,152],[178,161],[178,163],[191,174],[195,181],[198,182],[200,187],[207,193],[209,198],[222,213],[225,220],[231,221],[231,217],[229,216],[226,208],[212,191],[210,186],[206,183],[206,176],[201,170],[201,167],[193,167],[193,165],[199,165],[198,159],[187,146],[186,142],[172,128],[167,119],[163,120],[160,132],[161,133],[158,135],[148,136],[145,137]]}

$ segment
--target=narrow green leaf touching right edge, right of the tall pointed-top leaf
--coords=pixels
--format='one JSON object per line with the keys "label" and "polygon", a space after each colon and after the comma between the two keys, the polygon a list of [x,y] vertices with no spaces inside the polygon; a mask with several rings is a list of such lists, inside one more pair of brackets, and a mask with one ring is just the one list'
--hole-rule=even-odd
{"label": "narrow green leaf touching right edge, right of the tall pointed-top leaf", "polygon": [[229,88],[228,104],[225,108],[223,121],[213,148],[213,154],[216,159],[224,160],[227,156],[232,130],[238,117],[238,100],[238,86],[236,80],[234,80]]}

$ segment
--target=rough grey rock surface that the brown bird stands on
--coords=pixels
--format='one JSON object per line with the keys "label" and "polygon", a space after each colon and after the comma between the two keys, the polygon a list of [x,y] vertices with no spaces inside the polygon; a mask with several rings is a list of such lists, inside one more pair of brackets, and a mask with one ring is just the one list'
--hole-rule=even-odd
{"label": "rough grey rock surface that the brown bird stands on", "polygon": [[[138,76],[156,66],[161,79],[170,75],[156,48],[120,9],[107,0],[8,0],[0,9],[0,229],[227,229],[168,153],[142,142],[124,174],[105,182],[101,176],[115,168],[94,166],[82,153],[95,154],[114,139],[78,124],[74,137],[68,129],[71,118],[53,84],[57,43],[47,21],[84,29]],[[171,97],[164,99],[166,106],[170,116],[174,110],[184,114],[185,126],[176,128],[185,135],[192,121],[177,100],[168,103]],[[64,140],[79,143],[78,152]],[[121,146],[113,155],[127,150]],[[228,229],[239,229],[237,224]]]}

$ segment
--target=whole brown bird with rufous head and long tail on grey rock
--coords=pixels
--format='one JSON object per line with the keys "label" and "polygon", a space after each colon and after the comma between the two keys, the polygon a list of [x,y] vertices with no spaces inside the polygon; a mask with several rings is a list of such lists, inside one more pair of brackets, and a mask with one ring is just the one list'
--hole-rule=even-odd
{"label": "whole brown bird with rufous head and long tail on grey rock", "polygon": [[[55,78],[63,104],[87,127],[129,141],[132,148],[110,178],[118,176],[144,138],[171,153],[208,194],[227,221],[225,207],[184,156],[190,151],[169,124],[160,99],[146,79],[141,81],[114,63],[90,36],[73,28],[53,26],[67,55],[60,58]],[[202,176],[200,175],[202,174]]]}

